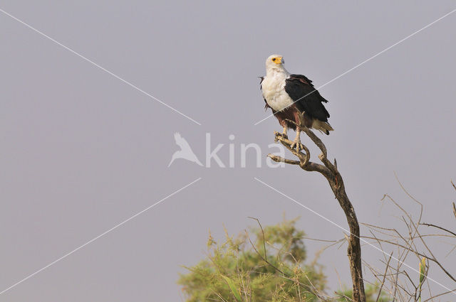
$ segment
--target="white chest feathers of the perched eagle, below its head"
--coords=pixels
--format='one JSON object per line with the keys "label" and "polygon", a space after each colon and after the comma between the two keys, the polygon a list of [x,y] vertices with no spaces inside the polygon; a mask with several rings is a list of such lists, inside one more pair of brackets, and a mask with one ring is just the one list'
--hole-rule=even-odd
{"label": "white chest feathers of the perched eagle, below its head", "polygon": [[286,77],[288,77],[288,75],[284,73],[276,73],[264,77],[263,82],[261,82],[263,97],[266,99],[269,107],[275,111],[280,111],[293,104],[293,99],[285,92]]}

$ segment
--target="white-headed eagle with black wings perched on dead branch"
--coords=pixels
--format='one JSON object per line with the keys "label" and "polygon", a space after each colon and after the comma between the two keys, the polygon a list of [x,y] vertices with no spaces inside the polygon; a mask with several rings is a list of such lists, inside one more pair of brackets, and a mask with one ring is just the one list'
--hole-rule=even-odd
{"label": "white-headed eagle with black wings perched on dead branch", "polygon": [[[260,77],[264,109],[271,108],[279,124],[284,127],[282,136],[288,139],[288,129],[296,131],[291,148],[301,149],[301,129],[296,124],[317,129],[325,134],[333,131],[328,123],[329,113],[323,103],[328,101],[315,89],[305,75],[290,74],[284,68],[284,57],[270,55],[266,59],[266,76]],[[287,121],[294,121],[296,124]]]}

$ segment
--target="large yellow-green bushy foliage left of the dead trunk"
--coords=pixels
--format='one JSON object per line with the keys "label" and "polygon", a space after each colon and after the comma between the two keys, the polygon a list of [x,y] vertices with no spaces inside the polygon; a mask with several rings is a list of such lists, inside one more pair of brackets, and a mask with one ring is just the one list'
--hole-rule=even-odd
{"label": "large yellow-green bushy foliage left of the dead trunk", "polygon": [[325,276],[318,264],[304,263],[304,232],[295,222],[265,227],[264,237],[252,229],[254,247],[247,234],[227,234],[217,244],[209,233],[206,259],[186,267],[189,272],[178,281],[186,301],[318,301],[315,293],[324,290]]}

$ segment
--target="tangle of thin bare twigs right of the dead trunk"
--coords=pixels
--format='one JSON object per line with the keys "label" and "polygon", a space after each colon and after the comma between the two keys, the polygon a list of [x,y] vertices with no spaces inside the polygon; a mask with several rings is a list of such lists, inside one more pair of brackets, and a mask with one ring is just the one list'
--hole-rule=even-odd
{"label": "tangle of thin bare twigs right of the dead trunk", "polygon": [[[399,180],[398,180],[399,182]],[[379,227],[376,225],[370,225],[370,224],[363,224],[366,227],[368,227],[371,231],[372,236],[367,237],[363,236],[363,238],[369,239],[369,240],[375,240],[373,243],[376,243],[378,247],[382,251],[385,251],[385,249],[382,247],[383,245],[386,244],[391,244],[394,247],[398,249],[397,252],[393,255],[393,259],[396,259],[398,261],[398,266],[397,268],[393,268],[390,266],[390,273],[388,275],[385,275],[384,271],[388,271],[388,264],[386,265],[387,268],[384,270],[380,269],[375,269],[369,266],[368,264],[365,264],[368,266],[371,271],[373,272],[373,275],[380,276],[383,274],[384,279],[382,284],[384,284],[383,288],[387,288],[388,291],[391,294],[390,298],[393,298],[393,301],[420,301],[420,299],[425,299],[424,301],[434,301],[434,298],[444,296],[444,295],[453,295],[456,293],[456,291],[450,291],[450,288],[447,288],[445,286],[442,286],[445,288],[445,291],[440,292],[440,293],[432,293],[432,291],[438,290],[439,286],[430,286],[429,280],[430,278],[427,278],[427,273],[430,271],[430,266],[431,264],[436,264],[436,266],[433,266],[432,269],[441,269],[442,272],[447,276],[449,281],[455,282],[456,283],[456,278],[450,274],[449,269],[445,267],[445,264],[439,261],[433,251],[432,247],[433,244],[430,244],[430,242],[427,242],[427,240],[432,239],[432,238],[438,238],[438,237],[447,237],[447,238],[454,238],[456,239],[456,232],[452,232],[451,230],[448,230],[445,227],[441,227],[438,224],[432,224],[432,223],[425,223],[422,222],[423,218],[423,204],[420,203],[418,200],[413,198],[412,195],[410,195],[403,185],[399,182],[400,187],[407,193],[408,197],[411,198],[417,205],[419,205],[419,215],[414,218],[412,214],[410,214],[410,211],[405,210],[404,207],[400,206],[399,203],[397,203],[393,198],[390,197],[390,195],[385,194],[382,200],[385,201],[390,201],[393,206],[395,207],[395,210],[398,210],[398,212],[402,212],[403,215],[401,215],[399,218],[399,221],[402,222],[403,227],[400,227],[400,229],[392,228],[392,227]],[[454,186],[454,184],[453,184]],[[395,211],[397,212],[397,211]],[[426,226],[426,228],[425,228]],[[432,228],[432,233],[424,233],[424,230],[428,230],[429,228]],[[404,230],[401,232],[400,230]],[[434,233],[435,232],[435,233]],[[453,249],[456,248],[453,247]],[[453,250],[452,249],[452,250]],[[452,251],[450,251],[452,252]],[[425,268],[424,268],[424,279],[421,279],[421,267],[420,266],[415,266],[416,269],[413,266],[410,266],[407,263],[408,256],[412,256],[413,260],[416,261],[417,259],[423,261],[422,259],[425,258],[427,259],[427,263],[425,263]],[[413,263],[413,262],[412,262]],[[416,262],[415,262],[416,263]],[[415,264],[416,265],[416,264]],[[417,278],[415,280],[415,274],[418,273],[419,279]],[[393,276],[395,274],[395,276]],[[410,275],[411,274],[411,275]],[[415,275],[415,276],[413,276]],[[415,280],[415,281],[414,281]],[[419,281],[419,284],[416,282]],[[425,294],[425,291],[423,288],[423,280],[425,280],[425,284],[427,287],[427,291],[429,295],[428,298],[422,297],[422,295]],[[441,284],[437,284],[440,285]],[[450,301],[454,300],[450,299]],[[448,301],[448,300],[445,300]]]}

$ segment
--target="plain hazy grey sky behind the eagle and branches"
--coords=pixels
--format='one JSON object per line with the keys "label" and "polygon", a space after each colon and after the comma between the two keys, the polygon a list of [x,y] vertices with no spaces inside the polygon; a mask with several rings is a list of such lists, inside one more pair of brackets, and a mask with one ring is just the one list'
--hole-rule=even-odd
{"label": "plain hazy grey sky behind the eagle and branches", "polygon": [[[284,55],[316,86],[456,8],[455,1],[9,1],[0,9],[132,82],[202,125],[0,13],[0,291],[187,183],[153,207],[33,278],[0,301],[180,301],[180,265],[204,257],[208,230],[222,239],[258,217],[301,216],[309,237],[338,230],[254,180],[334,222],[345,218],[321,176],[298,168],[167,164],[180,131],[204,159],[212,145],[257,143],[269,153],[275,118],[259,91],[264,60]],[[456,13],[323,87],[336,156],[361,222],[398,225],[390,193],[408,210],[393,171],[425,205],[425,220],[455,225]],[[303,141],[307,141],[301,136]],[[273,150],[275,151],[275,150]],[[314,151],[316,158],[316,152]],[[250,160],[250,161],[249,161]],[[416,211],[415,211],[416,212]],[[309,258],[321,244],[306,242]],[[435,242],[440,257],[450,250]],[[366,259],[380,255],[363,247]],[[442,258],[455,271],[455,254]],[[345,247],[321,259],[328,282],[350,284]],[[418,266],[418,261],[416,264]],[[437,269],[430,276],[449,286]],[[454,286],[454,285],[453,285]]]}

